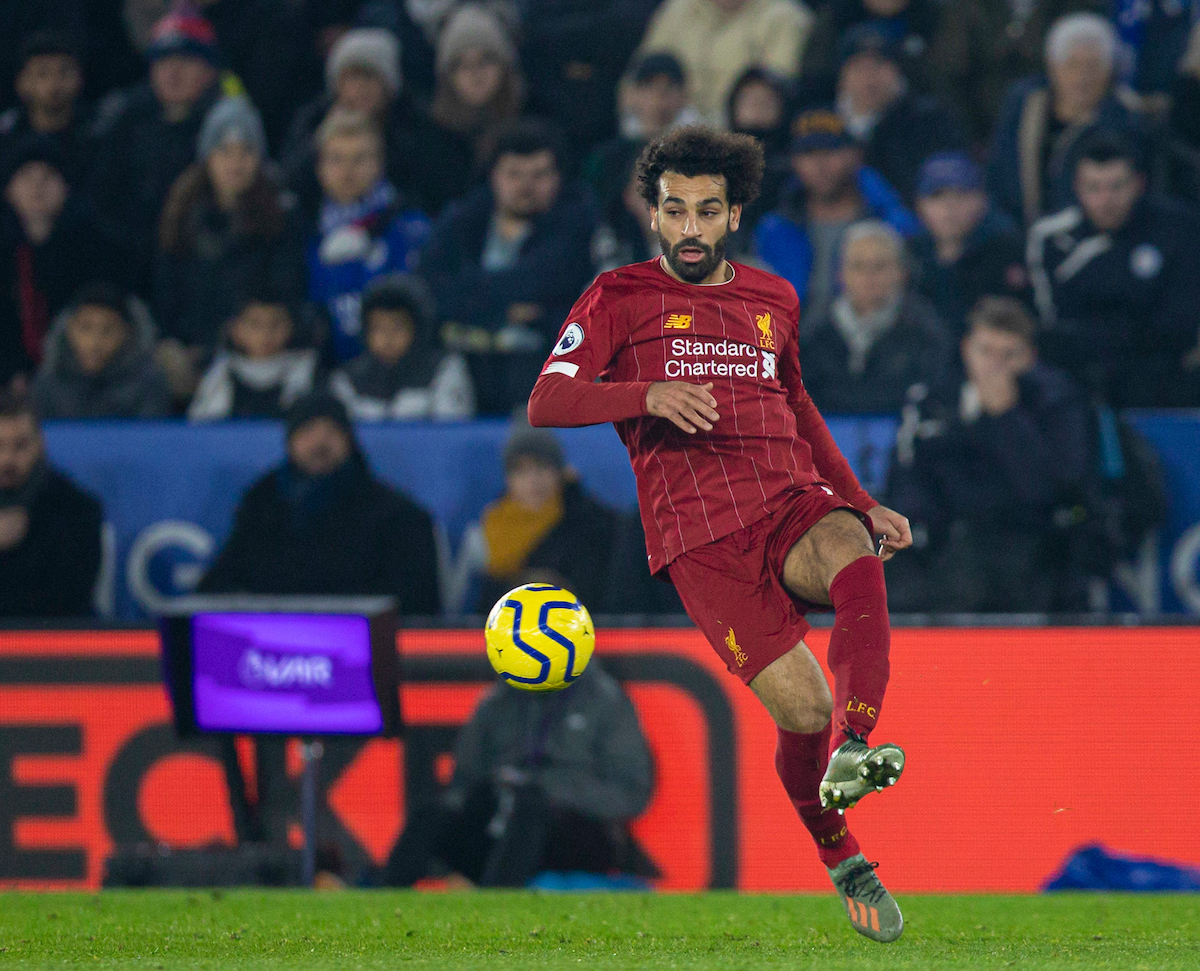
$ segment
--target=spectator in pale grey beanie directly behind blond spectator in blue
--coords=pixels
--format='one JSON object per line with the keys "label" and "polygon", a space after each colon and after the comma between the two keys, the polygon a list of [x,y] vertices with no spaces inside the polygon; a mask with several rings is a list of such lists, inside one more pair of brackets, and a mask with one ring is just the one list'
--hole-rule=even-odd
{"label": "spectator in pale grey beanie directly behind blond spectator in blue", "polygon": [[[281,154],[284,179],[307,212],[320,205],[320,130],[335,114],[362,115],[378,130],[388,180],[413,205],[424,202],[426,180],[440,160],[431,155],[436,136],[428,118],[404,90],[400,46],[383,28],[356,28],[337,41],[325,62],[326,91],[301,108]],[[431,174],[432,173],[432,174]]]}

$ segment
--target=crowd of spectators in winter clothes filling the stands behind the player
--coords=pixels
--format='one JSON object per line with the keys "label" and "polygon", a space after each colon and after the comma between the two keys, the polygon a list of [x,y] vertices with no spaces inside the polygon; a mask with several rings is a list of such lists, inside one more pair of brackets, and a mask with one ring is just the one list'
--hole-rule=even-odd
{"label": "crowd of spectators in winter clothes filling the stands behind the player", "polygon": [[[901,415],[896,610],[1086,609],[1140,535],[1098,443],[1153,474],[1114,409],[1200,406],[1187,0],[8,0],[0,36],[6,592],[97,569],[40,418],[287,419],[205,589],[436,570],[350,421],[521,409],[582,289],[658,253],[634,162],[694,121],[766,149],[730,253],[796,287],[818,407]],[[413,612],[532,575],[678,610],[552,437],[504,464],[456,603],[404,581]],[[325,583],[308,533],[408,540]]]}

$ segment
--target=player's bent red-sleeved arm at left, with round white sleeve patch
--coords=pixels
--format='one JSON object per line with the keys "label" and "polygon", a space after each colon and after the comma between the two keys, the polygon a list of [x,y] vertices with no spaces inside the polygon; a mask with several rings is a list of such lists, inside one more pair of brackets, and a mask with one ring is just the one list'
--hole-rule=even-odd
{"label": "player's bent red-sleeved arm at left, with round white sleeve patch", "polygon": [[719,418],[712,384],[682,380],[596,383],[629,338],[620,295],[604,274],[578,299],[559,331],[529,396],[529,424],[570,428],[653,415],[685,432],[706,431]]}

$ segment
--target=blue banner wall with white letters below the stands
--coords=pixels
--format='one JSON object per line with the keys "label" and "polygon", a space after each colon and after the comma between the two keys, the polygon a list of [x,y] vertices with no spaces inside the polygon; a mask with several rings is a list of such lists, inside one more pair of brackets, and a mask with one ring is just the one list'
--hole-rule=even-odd
{"label": "blue banner wall with white letters below the stands", "polygon": [[[1163,454],[1171,513],[1157,551],[1124,571],[1124,585],[1145,612],[1200,615],[1200,413],[1140,413],[1134,420]],[[881,490],[894,420],[834,418],[829,425],[864,485]],[[494,421],[361,428],[374,468],[434,515],[449,551],[503,489],[506,433]],[[612,427],[559,434],[588,489],[632,509],[634,475]],[[283,454],[282,432],[269,422],[52,422],[46,437],[50,457],[104,502],[110,555],[101,600],[106,613],[125,619],[192,588],[228,534],[242,491]]]}

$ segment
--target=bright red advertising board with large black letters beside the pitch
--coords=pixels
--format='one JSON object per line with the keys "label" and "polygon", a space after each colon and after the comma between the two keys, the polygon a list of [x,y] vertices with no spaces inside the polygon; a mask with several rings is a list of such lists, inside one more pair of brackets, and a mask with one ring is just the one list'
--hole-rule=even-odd
{"label": "bright red advertising board with large black letters beside the pitch", "polygon": [[[809,642],[823,657],[827,631]],[[449,778],[491,684],[478,631],[406,631],[401,654],[406,741],[353,742],[324,766],[330,826],[362,862]],[[654,753],[635,833],[661,887],[827,891],[775,778],[774,727],[701,636],[602,630],[596,657]],[[1157,754],[1200,730],[1200,628],[900,629],[892,665],[880,736],[908,766],[850,816],[888,886],[1033,891],[1088,843],[1200,865],[1187,771],[1164,796]],[[174,737],[157,679],[149,631],[0,633],[0,888],[96,887],[115,843],[232,840],[221,767]]]}

